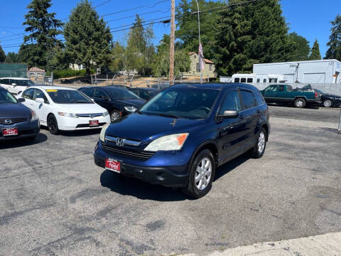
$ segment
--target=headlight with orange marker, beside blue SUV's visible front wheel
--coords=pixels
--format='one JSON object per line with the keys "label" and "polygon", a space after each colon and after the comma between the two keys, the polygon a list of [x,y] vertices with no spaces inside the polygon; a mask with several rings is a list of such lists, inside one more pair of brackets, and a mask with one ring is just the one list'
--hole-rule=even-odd
{"label": "headlight with orange marker, beside blue SUV's visible front wheel", "polygon": [[188,137],[188,133],[183,134],[172,134],[160,137],[148,146],[146,146],[145,151],[172,151],[172,150],[180,150],[183,148],[183,144],[185,143]]}

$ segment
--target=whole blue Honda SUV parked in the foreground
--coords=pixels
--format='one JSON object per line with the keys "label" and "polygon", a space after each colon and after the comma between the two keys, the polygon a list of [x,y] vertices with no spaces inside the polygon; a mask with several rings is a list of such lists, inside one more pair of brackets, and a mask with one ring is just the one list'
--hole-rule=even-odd
{"label": "whole blue Honda SUV parked in the foreground", "polygon": [[136,113],[105,125],[94,162],[200,198],[218,166],[247,151],[263,156],[269,132],[268,106],[254,86],[173,85]]}

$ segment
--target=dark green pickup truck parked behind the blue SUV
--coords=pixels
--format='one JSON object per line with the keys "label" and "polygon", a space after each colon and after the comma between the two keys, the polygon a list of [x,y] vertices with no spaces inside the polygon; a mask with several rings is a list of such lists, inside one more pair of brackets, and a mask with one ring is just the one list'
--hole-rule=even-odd
{"label": "dark green pickup truck parked behind the blue SUV", "polygon": [[264,100],[267,103],[278,105],[293,104],[295,107],[307,105],[320,105],[321,93],[317,90],[296,90],[291,85],[269,85],[261,90]]}

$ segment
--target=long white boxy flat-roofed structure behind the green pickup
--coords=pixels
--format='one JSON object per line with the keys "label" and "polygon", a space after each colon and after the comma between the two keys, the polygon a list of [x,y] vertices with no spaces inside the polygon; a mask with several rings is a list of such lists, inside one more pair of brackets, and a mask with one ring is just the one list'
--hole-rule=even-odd
{"label": "long white boxy flat-roofed structure behind the green pickup", "polygon": [[254,74],[283,75],[288,83],[341,83],[341,62],[338,60],[306,60],[285,63],[254,64]]}

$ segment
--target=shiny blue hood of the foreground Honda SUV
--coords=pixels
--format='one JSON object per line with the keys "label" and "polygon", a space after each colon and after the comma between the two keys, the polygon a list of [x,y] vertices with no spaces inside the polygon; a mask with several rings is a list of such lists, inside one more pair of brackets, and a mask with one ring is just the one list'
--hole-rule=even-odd
{"label": "shiny blue hood of the foreground Honda SUV", "polygon": [[114,122],[107,129],[107,134],[113,137],[148,142],[158,137],[190,132],[202,125],[202,120],[174,119],[147,114],[129,114]]}

